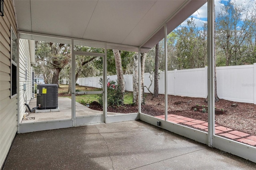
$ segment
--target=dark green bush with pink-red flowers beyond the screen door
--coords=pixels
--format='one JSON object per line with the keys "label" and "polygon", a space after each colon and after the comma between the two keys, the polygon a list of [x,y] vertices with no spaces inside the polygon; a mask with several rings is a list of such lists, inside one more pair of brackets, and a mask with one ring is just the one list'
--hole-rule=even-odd
{"label": "dark green bush with pink-red flowers beyond the screen door", "polygon": [[[100,79],[100,85],[103,85],[103,80]],[[102,86],[103,87],[103,86]],[[120,87],[116,84],[115,81],[108,81],[107,83],[107,91],[108,91],[108,106],[120,106],[124,103],[122,100],[122,92]],[[99,103],[100,105],[103,105],[103,100],[102,100],[103,95],[99,95]]]}

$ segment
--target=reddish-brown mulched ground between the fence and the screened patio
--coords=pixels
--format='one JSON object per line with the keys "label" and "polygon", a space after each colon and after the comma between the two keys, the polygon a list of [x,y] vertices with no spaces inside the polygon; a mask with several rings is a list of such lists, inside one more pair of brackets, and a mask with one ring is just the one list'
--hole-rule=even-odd
{"label": "reddish-brown mulched ground between the fence and the screened patio", "polygon": [[[164,95],[159,95],[157,98],[152,99],[152,95],[147,94],[145,101],[146,104],[142,105],[142,113],[151,116],[164,115]],[[192,106],[196,105],[207,107],[208,104],[203,98],[168,95],[168,114],[208,121],[207,113],[193,111],[193,109],[191,109]],[[90,108],[102,110],[102,107],[100,107],[97,102],[91,103]],[[215,115],[216,124],[240,132],[256,135],[256,105],[220,99],[220,101],[215,103],[215,108],[225,111],[222,115]],[[136,113],[138,112],[138,106],[123,105],[120,107],[108,107],[108,111],[117,113]]]}

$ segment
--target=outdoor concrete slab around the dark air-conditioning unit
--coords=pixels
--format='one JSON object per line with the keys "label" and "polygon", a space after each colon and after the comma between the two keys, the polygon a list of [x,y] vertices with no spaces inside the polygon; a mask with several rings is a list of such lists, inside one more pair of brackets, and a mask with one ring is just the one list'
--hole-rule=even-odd
{"label": "outdoor concrete slab around the dark air-conditioning unit", "polygon": [[[36,107],[36,99],[32,99],[29,103],[30,110]],[[31,123],[31,122],[41,122],[41,121],[56,121],[56,120],[64,120],[64,119],[71,119],[71,99],[68,97],[58,97],[58,107],[60,111],[51,112],[42,112],[42,113],[32,113],[29,112],[27,109],[26,118],[33,118],[32,120],[22,120],[21,123]],[[45,111],[45,110],[40,110]],[[102,115],[102,111],[92,110],[78,102],[76,102],[76,117],[80,116],[88,116],[88,115]],[[108,112],[108,115],[116,115],[120,113],[112,113]]]}

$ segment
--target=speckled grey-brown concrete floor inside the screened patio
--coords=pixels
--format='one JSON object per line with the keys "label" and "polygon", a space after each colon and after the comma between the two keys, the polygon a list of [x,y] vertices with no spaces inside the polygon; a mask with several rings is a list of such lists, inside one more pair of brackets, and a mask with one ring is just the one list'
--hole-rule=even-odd
{"label": "speckled grey-brown concrete floor inside the screened patio", "polygon": [[3,170],[250,170],[256,164],[149,125],[128,121],[17,134]]}

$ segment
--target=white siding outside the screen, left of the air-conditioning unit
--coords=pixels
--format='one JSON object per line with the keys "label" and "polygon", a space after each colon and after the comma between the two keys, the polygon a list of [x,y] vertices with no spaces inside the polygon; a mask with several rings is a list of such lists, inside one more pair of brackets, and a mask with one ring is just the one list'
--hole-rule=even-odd
{"label": "white siding outside the screen, left of the air-conditioning unit", "polygon": [[[29,103],[31,99],[31,64],[30,64],[30,48],[28,40],[20,39],[19,40],[19,113],[20,119],[22,121],[22,117],[26,112],[25,103]],[[24,90],[24,85],[26,85],[26,90]],[[25,102],[26,101],[26,102]]]}

